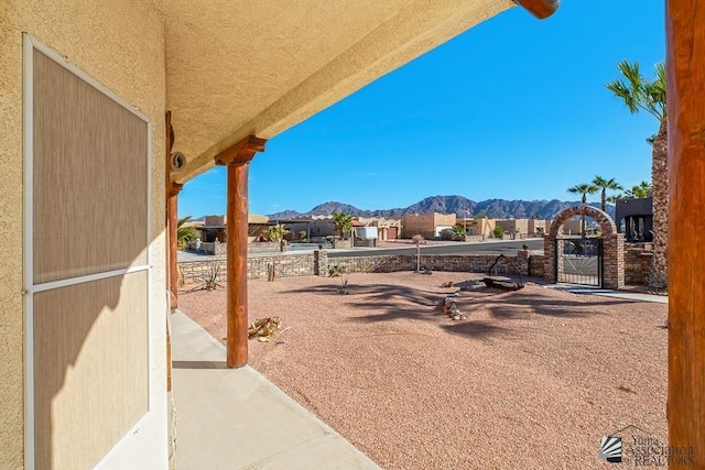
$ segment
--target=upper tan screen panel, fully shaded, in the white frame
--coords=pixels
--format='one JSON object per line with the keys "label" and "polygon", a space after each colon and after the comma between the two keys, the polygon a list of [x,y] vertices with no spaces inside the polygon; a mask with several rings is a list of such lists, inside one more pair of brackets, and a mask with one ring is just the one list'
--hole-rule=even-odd
{"label": "upper tan screen panel, fully shaded, in the white frame", "polygon": [[147,264],[148,123],[34,52],[34,284]]}

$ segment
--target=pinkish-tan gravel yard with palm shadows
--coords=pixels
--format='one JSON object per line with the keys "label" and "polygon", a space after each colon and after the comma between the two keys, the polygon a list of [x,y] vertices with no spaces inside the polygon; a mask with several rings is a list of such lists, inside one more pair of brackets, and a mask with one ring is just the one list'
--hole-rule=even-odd
{"label": "pinkish-tan gravel yard with palm shadows", "polygon": [[[251,340],[250,364],[386,469],[615,468],[603,436],[666,441],[666,305],[529,283],[463,291],[468,319],[444,315],[458,288],[442,283],[479,277],[352,274],[347,295],[340,278],[251,281],[250,320],[288,329]],[[223,291],[180,308],[225,339]]]}

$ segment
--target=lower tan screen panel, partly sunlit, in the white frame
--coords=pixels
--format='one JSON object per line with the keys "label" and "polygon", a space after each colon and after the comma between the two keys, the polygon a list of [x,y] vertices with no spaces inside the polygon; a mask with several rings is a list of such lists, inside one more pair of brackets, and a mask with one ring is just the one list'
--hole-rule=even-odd
{"label": "lower tan screen panel, partly sunlit, in the white frame", "polygon": [[35,468],[94,468],[148,412],[148,271],[34,295]]}

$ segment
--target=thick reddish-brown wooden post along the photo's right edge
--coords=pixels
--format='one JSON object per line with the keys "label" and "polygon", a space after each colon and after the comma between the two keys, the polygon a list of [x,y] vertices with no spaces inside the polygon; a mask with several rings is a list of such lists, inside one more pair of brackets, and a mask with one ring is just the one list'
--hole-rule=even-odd
{"label": "thick reddish-brown wooden post along the photo's right edge", "polygon": [[701,469],[705,468],[704,25],[705,2],[666,0],[669,445],[692,449],[690,467]]}

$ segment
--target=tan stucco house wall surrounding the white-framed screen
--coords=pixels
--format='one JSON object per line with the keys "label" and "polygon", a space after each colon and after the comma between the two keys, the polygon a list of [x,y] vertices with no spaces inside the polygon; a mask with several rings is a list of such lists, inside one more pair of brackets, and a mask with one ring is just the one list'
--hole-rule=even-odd
{"label": "tan stucco house wall surrounding the white-framed screen", "polygon": [[[165,311],[163,234],[164,29],[149,0],[0,1],[0,467],[23,467],[22,32],[48,45],[152,121],[152,295]],[[163,325],[163,324],[162,324]],[[155,325],[153,325],[155,326]],[[163,341],[163,327],[154,328]],[[153,376],[165,382],[165,363]],[[165,413],[158,406],[156,413]],[[164,409],[162,409],[164,408]],[[166,422],[165,415],[163,420]],[[166,447],[153,449],[156,455]],[[156,468],[156,467],[154,467]]]}

